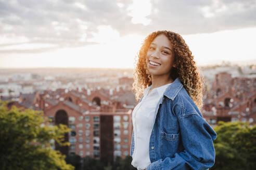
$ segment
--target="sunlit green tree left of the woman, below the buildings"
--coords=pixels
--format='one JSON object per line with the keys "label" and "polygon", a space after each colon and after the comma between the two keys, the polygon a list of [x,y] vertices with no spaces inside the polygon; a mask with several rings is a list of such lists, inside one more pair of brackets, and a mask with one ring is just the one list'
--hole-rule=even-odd
{"label": "sunlit green tree left of the woman, below the buildings", "polygon": [[53,140],[68,145],[62,141],[70,129],[61,124],[45,126],[46,122],[40,111],[15,106],[8,110],[0,101],[1,169],[74,169],[65,155],[50,148]]}

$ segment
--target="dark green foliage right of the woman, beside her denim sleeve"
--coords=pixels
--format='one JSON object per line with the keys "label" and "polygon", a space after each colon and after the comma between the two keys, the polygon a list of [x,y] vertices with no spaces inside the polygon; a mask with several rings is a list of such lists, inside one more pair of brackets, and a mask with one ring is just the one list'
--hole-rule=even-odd
{"label": "dark green foliage right of the woman, beside her denim sleeve", "polygon": [[211,169],[254,169],[256,166],[256,125],[219,122],[215,127],[215,164]]}

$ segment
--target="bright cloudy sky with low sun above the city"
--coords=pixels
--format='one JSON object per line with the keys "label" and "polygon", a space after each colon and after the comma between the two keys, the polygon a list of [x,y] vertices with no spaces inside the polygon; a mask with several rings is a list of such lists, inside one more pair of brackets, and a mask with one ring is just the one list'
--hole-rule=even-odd
{"label": "bright cloudy sky with low sun above the city", "polygon": [[0,68],[134,68],[153,31],[181,34],[198,66],[256,64],[256,0],[0,0]]}

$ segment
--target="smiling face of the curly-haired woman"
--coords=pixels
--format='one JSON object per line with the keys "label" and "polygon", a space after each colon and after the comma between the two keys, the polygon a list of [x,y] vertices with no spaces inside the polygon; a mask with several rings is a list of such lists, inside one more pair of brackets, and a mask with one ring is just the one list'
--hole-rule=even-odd
{"label": "smiling face of the curly-haired woman", "polygon": [[146,64],[152,76],[170,74],[174,66],[174,50],[171,41],[164,34],[158,35],[150,44]]}

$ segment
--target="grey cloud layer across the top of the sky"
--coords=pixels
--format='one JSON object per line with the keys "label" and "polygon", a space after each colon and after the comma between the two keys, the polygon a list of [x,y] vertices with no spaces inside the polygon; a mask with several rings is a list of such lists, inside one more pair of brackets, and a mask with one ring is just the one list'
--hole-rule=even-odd
{"label": "grey cloud layer across the top of the sky", "polygon": [[[146,36],[156,30],[183,35],[212,33],[256,25],[256,1],[252,0],[151,0],[150,3],[150,11],[143,16],[144,23],[139,23],[134,22],[131,6],[140,4],[136,11],[148,6],[135,0],[0,1],[0,38],[25,37],[30,43],[63,48],[95,44],[88,40],[94,38],[102,25],[110,26],[120,36],[133,33]],[[0,44],[7,43],[0,39]],[[41,49],[44,50],[48,49]],[[7,52],[11,51],[0,51]]]}

